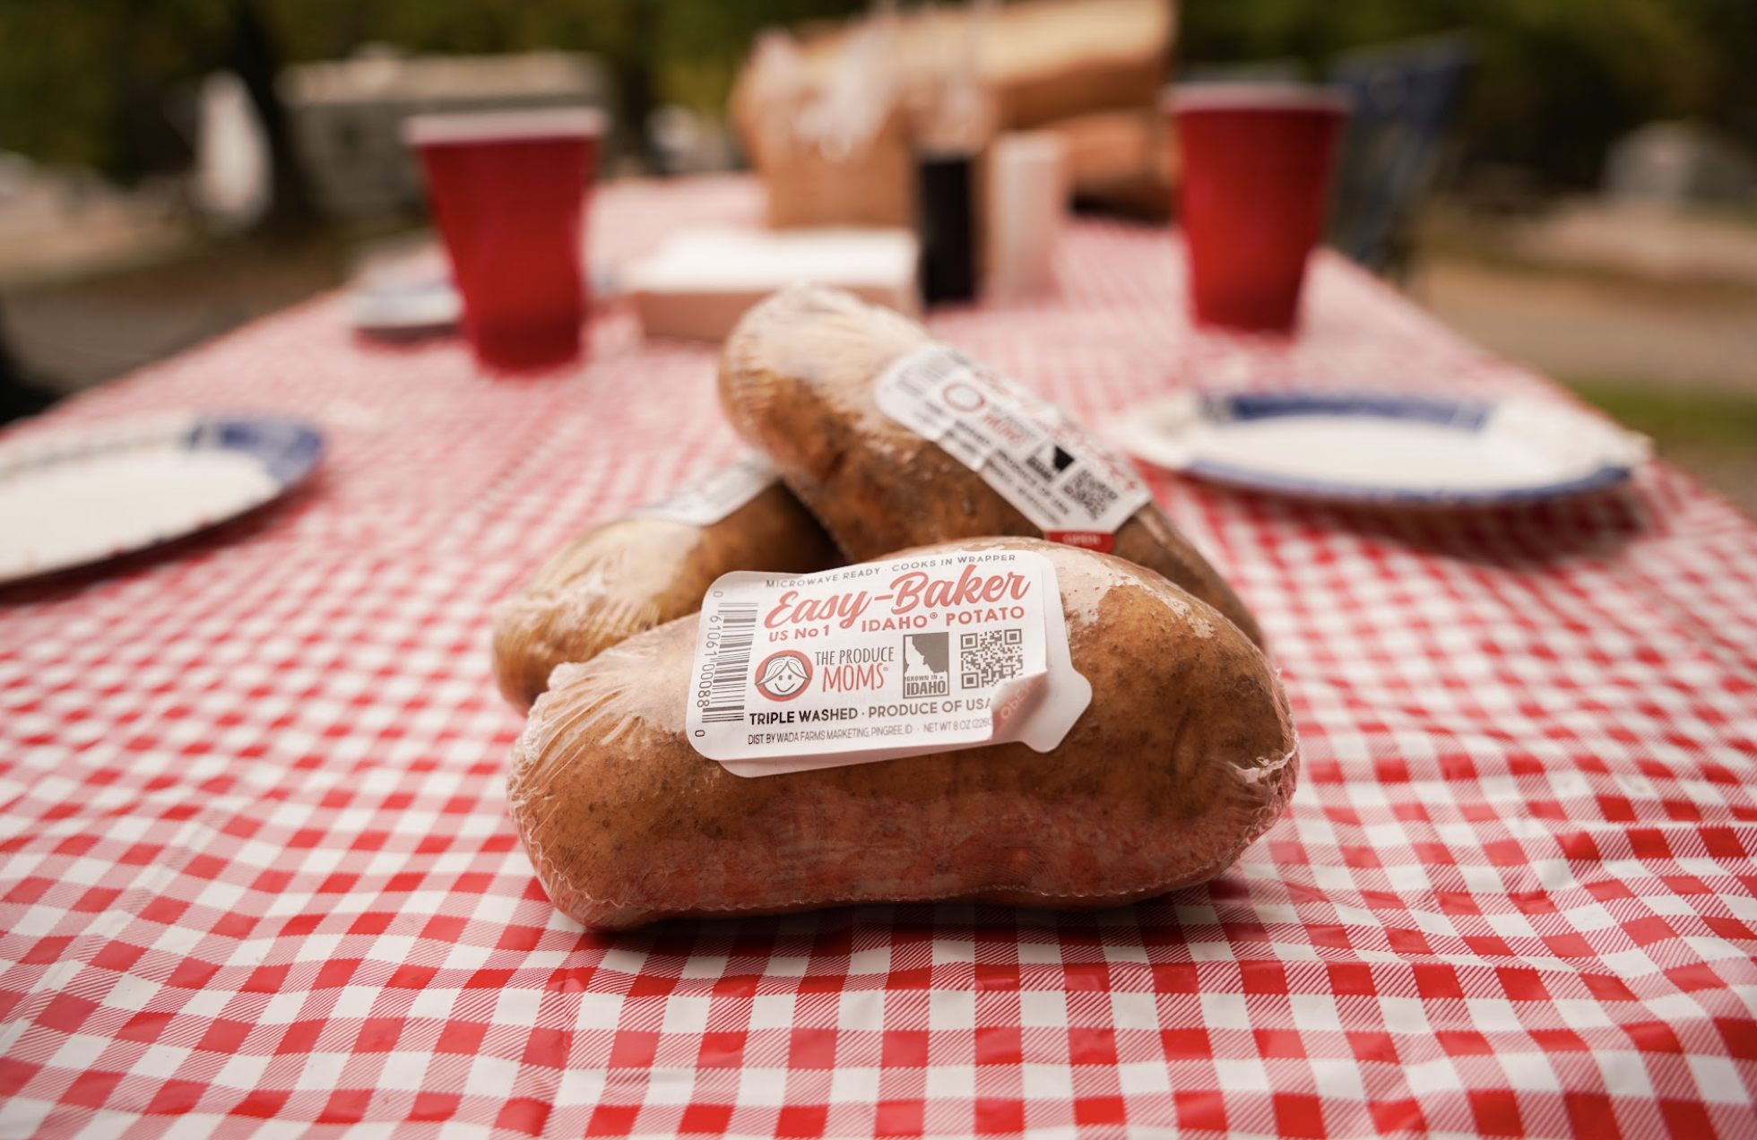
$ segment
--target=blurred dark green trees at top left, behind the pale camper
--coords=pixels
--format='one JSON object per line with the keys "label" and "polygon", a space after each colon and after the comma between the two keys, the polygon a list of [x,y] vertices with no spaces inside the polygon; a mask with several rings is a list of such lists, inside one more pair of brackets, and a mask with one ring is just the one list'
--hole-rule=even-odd
{"label": "blurred dark green trees at top left, behind the pale camper", "polygon": [[604,58],[636,114],[715,107],[757,30],[863,0],[0,0],[0,151],[134,177],[181,165],[176,100],[234,67],[241,14],[286,61],[360,44],[413,53],[553,47]]}

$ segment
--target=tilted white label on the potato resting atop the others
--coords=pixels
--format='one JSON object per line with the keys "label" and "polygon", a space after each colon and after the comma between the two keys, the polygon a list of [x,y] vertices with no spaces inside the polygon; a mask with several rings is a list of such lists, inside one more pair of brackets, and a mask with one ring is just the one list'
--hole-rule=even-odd
{"label": "tilted white label on the potato resting atop the others", "polygon": [[894,362],[878,408],[935,441],[1019,508],[1045,538],[1109,552],[1153,495],[1126,458],[1065,411],[949,344]]}

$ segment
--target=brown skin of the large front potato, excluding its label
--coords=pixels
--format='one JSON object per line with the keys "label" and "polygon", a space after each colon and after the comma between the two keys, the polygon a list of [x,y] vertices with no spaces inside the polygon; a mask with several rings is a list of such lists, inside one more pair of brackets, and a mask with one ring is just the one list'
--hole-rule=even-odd
{"label": "brown skin of the large front potato, excluding its label", "polygon": [[1212,608],[1121,559],[1035,539],[1093,703],[1023,743],[743,778],[685,738],[698,618],[555,673],[508,797],[555,905],[599,929],[843,903],[1098,908],[1219,875],[1298,769],[1286,696]]}

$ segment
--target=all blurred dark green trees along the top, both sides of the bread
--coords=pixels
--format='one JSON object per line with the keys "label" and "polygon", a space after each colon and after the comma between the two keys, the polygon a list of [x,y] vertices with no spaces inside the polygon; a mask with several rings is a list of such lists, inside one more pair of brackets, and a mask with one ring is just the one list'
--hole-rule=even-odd
{"label": "all blurred dark green trees along the top, both sides of the bread", "polygon": [[[912,7],[905,0],[901,7]],[[239,49],[239,12],[285,60],[364,42],[409,51],[592,51],[625,109],[715,107],[768,25],[864,0],[0,0],[0,149],[137,176],[186,144],[167,97]],[[1753,0],[1184,0],[1179,54],[1300,58],[1474,28],[1481,70],[1465,155],[1553,184],[1597,179],[1604,146],[1653,118],[1696,116],[1757,142]]]}

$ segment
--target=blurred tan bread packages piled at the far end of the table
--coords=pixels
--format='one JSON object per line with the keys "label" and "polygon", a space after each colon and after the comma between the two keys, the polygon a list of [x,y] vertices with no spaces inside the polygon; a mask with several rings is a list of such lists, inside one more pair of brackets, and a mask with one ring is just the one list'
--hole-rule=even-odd
{"label": "blurred tan bread packages piled at the far end of the table", "polygon": [[[1174,30],[1168,0],[929,7],[777,30],[740,72],[733,121],[770,186],[771,225],[910,225],[908,123],[931,118],[973,44],[970,79],[991,100],[993,132],[1063,135],[1075,197],[1163,218],[1154,100]],[[829,121],[847,126],[826,148]]]}

